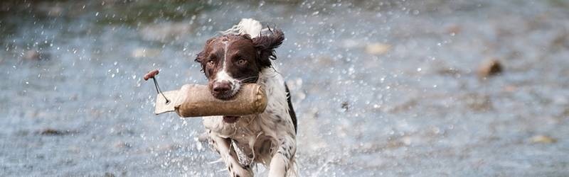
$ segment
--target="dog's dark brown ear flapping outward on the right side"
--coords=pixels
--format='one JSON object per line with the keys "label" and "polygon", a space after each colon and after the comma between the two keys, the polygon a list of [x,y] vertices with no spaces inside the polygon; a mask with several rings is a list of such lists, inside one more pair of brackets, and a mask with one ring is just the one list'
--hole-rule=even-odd
{"label": "dog's dark brown ear flapping outward on the right side", "polygon": [[275,48],[279,47],[282,41],[285,40],[285,34],[282,33],[282,30],[275,29],[270,35],[260,35],[252,40],[259,56],[257,62],[259,62],[259,67],[262,69],[271,66],[270,59],[277,59]]}

